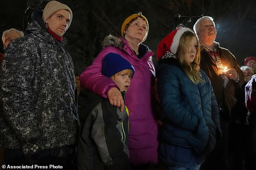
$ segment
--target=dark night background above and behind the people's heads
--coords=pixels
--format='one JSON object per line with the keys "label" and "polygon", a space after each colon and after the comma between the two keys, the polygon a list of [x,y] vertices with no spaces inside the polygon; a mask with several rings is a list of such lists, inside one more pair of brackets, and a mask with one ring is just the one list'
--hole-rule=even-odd
{"label": "dark night background above and behind the people's heads", "polygon": [[[35,0],[36,2],[36,0]],[[214,18],[220,46],[235,55],[239,65],[247,56],[256,55],[256,2],[254,0],[59,0],[73,12],[71,26],[65,33],[75,73],[80,74],[101,50],[101,41],[111,33],[120,36],[124,19],[141,11],[149,22],[143,44],[156,53],[157,44],[178,24],[193,29],[197,17]],[[42,7],[47,3],[43,0]],[[23,31],[27,0],[0,0],[0,34],[6,29]],[[175,15],[180,14],[181,17]],[[187,16],[183,18],[183,16]],[[3,52],[2,41],[0,52]],[[157,62],[153,56],[154,64]]]}

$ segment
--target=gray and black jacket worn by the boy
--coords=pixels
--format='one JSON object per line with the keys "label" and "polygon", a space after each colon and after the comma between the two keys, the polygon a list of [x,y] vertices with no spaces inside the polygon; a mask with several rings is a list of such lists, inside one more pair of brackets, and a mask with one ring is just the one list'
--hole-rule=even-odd
{"label": "gray and black jacket worn by the boy", "polygon": [[[124,93],[122,93],[124,97]],[[128,109],[82,89],[78,139],[79,170],[129,170]]]}

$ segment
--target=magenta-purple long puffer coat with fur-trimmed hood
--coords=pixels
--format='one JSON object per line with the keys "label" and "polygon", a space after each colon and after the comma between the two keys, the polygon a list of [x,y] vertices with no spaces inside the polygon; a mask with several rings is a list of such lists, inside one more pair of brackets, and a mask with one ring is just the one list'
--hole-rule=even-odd
{"label": "magenta-purple long puffer coat with fur-trimmed hood", "polygon": [[[147,47],[145,46],[145,48]],[[80,83],[83,88],[105,98],[107,98],[107,92],[111,87],[117,87],[111,79],[101,73],[102,60],[110,52],[120,54],[135,69],[125,99],[130,122],[130,163],[132,165],[157,163],[157,122],[151,106],[151,82],[155,77],[155,68],[150,57],[154,53],[147,48],[146,54],[139,59],[125,39],[112,35],[107,36],[103,41],[103,50],[80,75]]]}

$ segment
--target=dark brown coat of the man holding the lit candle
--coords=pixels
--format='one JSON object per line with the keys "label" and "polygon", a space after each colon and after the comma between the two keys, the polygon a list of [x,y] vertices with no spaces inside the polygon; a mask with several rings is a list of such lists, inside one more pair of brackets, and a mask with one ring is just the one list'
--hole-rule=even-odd
{"label": "dark brown coat of the man holding the lit candle", "polygon": [[240,87],[243,84],[244,75],[243,71],[237,64],[235,56],[233,56],[229,50],[221,47],[217,47],[217,49],[223,66],[227,66],[227,68],[235,68],[237,71],[237,74],[240,77],[239,83],[229,81],[227,87],[224,89],[223,80],[218,71],[218,67],[214,59],[206,50],[201,51],[200,68],[206,72],[212,83],[218,106],[222,109],[223,118],[225,118],[225,120],[229,120],[231,118],[231,108],[236,104],[235,88]]}

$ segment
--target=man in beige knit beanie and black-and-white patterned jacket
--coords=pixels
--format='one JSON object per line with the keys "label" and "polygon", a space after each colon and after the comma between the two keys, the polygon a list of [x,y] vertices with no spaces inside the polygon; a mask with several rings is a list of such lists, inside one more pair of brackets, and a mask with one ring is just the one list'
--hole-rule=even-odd
{"label": "man in beige knit beanie and black-and-white patterned jacket", "polygon": [[72,11],[51,0],[32,19],[25,35],[6,48],[0,68],[0,147],[8,165],[71,170],[78,117],[73,62],[63,34]]}

